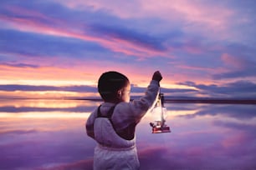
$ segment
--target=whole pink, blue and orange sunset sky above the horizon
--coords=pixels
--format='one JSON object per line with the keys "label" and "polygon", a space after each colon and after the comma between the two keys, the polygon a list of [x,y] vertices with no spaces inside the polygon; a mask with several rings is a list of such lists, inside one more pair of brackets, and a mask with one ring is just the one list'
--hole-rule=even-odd
{"label": "whole pink, blue and orange sunset sky above the horizon", "polygon": [[0,2],[0,98],[93,97],[102,72],[172,97],[256,98],[254,0]]}

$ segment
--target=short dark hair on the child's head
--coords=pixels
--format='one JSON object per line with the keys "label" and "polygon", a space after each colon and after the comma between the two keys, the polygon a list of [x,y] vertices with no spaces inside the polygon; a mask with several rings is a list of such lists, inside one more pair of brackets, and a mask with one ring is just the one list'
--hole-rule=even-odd
{"label": "short dark hair on the child's head", "polygon": [[125,87],[129,79],[120,72],[104,72],[98,81],[98,92],[105,101],[109,101],[116,96],[116,92]]}

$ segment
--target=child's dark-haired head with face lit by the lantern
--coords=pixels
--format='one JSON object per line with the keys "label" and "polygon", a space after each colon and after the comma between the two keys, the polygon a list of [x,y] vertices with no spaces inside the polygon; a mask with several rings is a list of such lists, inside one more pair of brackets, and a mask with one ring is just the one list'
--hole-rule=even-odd
{"label": "child's dark-haired head with face lit by the lantern", "polygon": [[105,72],[98,81],[98,92],[105,102],[129,102],[131,85],[120,72]]}

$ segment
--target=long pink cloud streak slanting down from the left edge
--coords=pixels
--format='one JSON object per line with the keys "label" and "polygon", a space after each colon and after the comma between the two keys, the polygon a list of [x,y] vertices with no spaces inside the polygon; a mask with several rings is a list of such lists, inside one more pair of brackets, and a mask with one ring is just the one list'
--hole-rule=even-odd
{"label": "long pink cloud streak slanting down from the left edge", "polygon": [[[40,34],[47,34],[52,36],[59,36],[59,37],[72,37],[77,38],[83,41],[89,41],[89,42],[96,42],[99,43],[101,46],[109,48],[113,52],[121,52],[126,55],[132,55],[136,57],[152,57],[155,55],[163,56],[164,52],[157,51],[155,49],[152,49],[150,47],[143,47],[137,42],[132,42],[130,40],[125,40],[118,37],[111,37],[108,35],[108,38],[104,37],[97,37],[89,32],[78,31],[78,29],[69,28],[69,26],[66,25],[66,23],[48,18],[44,16],[41,13],[36,13],[33,11],[28,11],[26,9],[22,8],[11,8],[12,12],[15,11],[15,13],[25,13],[28,16],[36,16],[38,19],[34,18],[14,18],[14,17],[6,17],[6,16],[0,16],[0,21],[5,23],[5,28],[13,28],[18,29],[19,31],[23,32],[35,32]],[[17,10],[17,11],[16,11]],[[50,23],[51,25],[40,22],[40,20],[45,20]],[[54,25],[53,25],[54,24]],[[83,27],[77,25],[76,27]],[[85,26],[86,28],[86,26]],[[83,30],[83,29],[81,29]]]}

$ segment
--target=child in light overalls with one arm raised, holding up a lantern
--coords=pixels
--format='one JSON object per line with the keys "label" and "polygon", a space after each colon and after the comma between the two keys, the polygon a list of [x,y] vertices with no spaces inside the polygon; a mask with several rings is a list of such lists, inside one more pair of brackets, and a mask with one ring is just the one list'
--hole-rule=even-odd
{"label": "child in light overalls with one arm raised, holding up a lantern", "polygon": [[130,102],[131,84],[120,72],[100,76],[98,91],[104,102],[86,122],[86,133],[97,142],[94,169],[139,169],[136,125],[156,102],[161,73],[154,72],[146,93]]}

